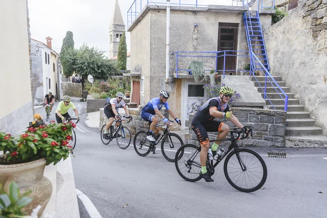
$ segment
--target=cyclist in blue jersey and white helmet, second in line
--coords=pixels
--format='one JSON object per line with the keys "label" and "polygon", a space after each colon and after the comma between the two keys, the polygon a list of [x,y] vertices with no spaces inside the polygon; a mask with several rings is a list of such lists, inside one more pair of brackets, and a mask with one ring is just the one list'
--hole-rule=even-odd
{"label": "cyclist in blue jersey and white helmet, second in line", "polygon": [[[172,116],[176,122],[181,125],[181,120],[179,120],[176,117],[176,114],[169,108],[167,99],[169,98],[169,92],[166,90],[160,90],[159,98],[153,98],[148,102],[146,106],[142,109],[141,116],[144,120],[150,122],[150,131],[148,133],[147,139],[150,141],[156,141],[155,135],[158,135],[159,129],[156,128],[159,118],[163,119],[163,122],[166,123],[167,125],[170,124],[169,120],[163,116],[163,114],[160,112],[160,110],[163,108],[163,106],[167,109],[168,113],[170,116]],[[157,115],[157,116],[155,116]],[[158,152],[155,152],[158,154]]]}

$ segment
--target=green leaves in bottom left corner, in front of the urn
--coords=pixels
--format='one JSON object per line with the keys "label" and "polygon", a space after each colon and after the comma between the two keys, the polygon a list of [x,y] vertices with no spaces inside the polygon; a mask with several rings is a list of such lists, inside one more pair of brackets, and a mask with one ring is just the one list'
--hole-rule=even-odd
{"label": "green leaves in bottom left corner, in front of the urn", "polygon": [[21,209],[32,202],[32,198],[27,197],[31,190],[20,194],[18,184],[12,181],[9,184],[8,193],[2,188],[0,183],[0,218],[14,218],[18,216],[25,216]]}

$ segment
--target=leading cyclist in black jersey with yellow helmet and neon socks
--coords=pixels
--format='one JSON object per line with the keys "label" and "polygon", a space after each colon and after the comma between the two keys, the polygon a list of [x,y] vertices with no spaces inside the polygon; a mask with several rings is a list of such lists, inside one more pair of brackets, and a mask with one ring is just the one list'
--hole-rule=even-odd
{"label": "leading cyclist in black jersey with yellow helmet and neon socks", "polygon": [[[219,132],[217,139],[223,139],[229,133],[229,126],[214,120],[216,117],[224,117],[229,119],[238,128],[242,128],[247,131],[247,127],[244,127],[238,119],[230,111],[227,103],[234,94],[232,88],[228,86],[223,86],[220,88],[220,95],[216,98],[209,99],[204,105],[202,105],[198,111],[195,113],[192,120],[192,129],[198,137],[201,145],[200,152],[200,162],[201,162],[201,172],[200,176],[204,178],[207,182],[213,182],[214,180],[208,175],[206,160],[208,155],[208,150],[210,147],[208,132]],[[217,154],[217,148],[221,142],[215,142],[211,149],[213,156]]]}

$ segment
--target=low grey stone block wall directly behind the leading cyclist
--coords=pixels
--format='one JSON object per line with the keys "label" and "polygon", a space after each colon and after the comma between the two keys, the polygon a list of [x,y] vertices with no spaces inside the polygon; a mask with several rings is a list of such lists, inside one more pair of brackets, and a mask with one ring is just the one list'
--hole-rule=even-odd
{"label": "low grey stone block wall directly behind the leading cyclist", "polygon": [[[253,138],[248,137],[239,140],[238,145],[249,147],[285,147],[285,122],[286,111],[270,109],[249,109],[249,108],[232,108],[233,114],[244,126],[250,126],[253,129]],[[193,115],[187,120],[189,132],[185,134],[185,143],[198,145],[196,134],[191,128]],[[216,118],[216,120],[219,120]],[[222,120],[226,123],[225,119]],[[227,125],[235,127],[230,121]],[[208,132],[209,140],[216,139],[218,132]],[[229,145],[230,142],[222,142],[222,146]]]}

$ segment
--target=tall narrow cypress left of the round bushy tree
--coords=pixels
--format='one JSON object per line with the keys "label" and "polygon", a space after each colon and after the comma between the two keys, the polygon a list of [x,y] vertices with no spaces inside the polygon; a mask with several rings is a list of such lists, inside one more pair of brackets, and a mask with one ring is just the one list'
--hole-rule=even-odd
{"label": "tall narrow cypress left of the round bushy tree", "polygon": [[75,56],[74,55],[74,39],[73,39],[73,32],[67,31],[66,37],[62,40],[62,46],[60,51],[60,60],[62,62],[62,70],[63,74],[68,77],[73,75],[74,70],[73,66],[69,65],[70,60],[69,57]]}

